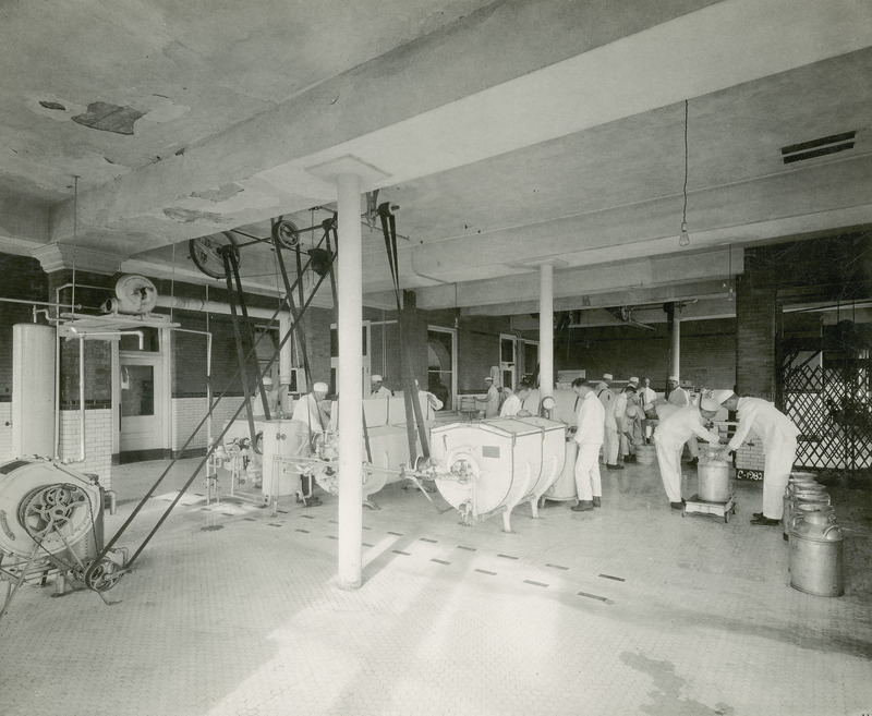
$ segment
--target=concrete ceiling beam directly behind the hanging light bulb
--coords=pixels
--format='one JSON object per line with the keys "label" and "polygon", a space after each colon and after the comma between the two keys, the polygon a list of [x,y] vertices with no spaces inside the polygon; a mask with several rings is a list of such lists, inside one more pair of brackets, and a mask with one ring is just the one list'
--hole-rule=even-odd
{"label": "concrete ceiling beam directly behind the hanging light bulb", "polygon": [[[872,221],[872,155],[689,193],[691,248],[761,241]],[[681,195],[524,227],[413,245],[412,270],[441,281],[522,272],[526,262],[569,266],[678,250]],[[499,251],[494,251],[499,246]],[[528,269],[529,270],[529,269]]]}

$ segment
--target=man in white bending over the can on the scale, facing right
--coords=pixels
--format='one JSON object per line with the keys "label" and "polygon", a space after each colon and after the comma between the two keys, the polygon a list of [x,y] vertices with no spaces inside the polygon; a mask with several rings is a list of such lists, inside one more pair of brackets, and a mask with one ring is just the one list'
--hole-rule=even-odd
{"label": "man in white bending over the can on the scale, facing right", "polygon": [[699,436],[710,445],[717,445],[720,436],[706,430],[703,421],[712,420],[719,409],[720,405],[708,398],[703,399],[699,406],[674,408],[654,430],[661,480],[673,509],[680,510],[685,505],[681,498],[681,452],[685,442],[690,436],[694,439]]}

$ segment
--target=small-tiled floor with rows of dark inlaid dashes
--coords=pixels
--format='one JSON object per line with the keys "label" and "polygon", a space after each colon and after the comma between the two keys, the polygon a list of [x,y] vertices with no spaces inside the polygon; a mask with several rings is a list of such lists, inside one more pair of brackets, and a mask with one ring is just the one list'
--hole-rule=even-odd
{"label": "small-tiled floor with rows of dark inlaid dashes", "polygon": [[[364,512],[354,592],[336,586],[335,498],[284,498],[276,517],[180,505],[106,593],[112,606],[21,591],[0,622],[0,714],[872,713],[872,493],[831,489],[846,593],[827,598],[789,586],[780,529],[749,525],[759,484],[736,483],[726,524],[670,510],[656,466],[603,480],[602,509],[549,503],[534,521],[520,507],[514,534],[389,485]],[[167,505],[149,500],[120,544]]]}

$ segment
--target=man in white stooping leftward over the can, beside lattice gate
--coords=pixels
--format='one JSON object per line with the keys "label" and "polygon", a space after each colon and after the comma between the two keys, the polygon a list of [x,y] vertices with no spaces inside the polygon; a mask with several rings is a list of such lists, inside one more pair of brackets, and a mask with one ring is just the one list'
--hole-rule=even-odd
{"label": "man in white stooping leftward over the can, beside lattice gate", "polygon": [[739,418],[736,433],[718,456],[720,460],[729,460],[729,453],[744,442],[749,433],[763,440],[763,511],[754,512],[751,524],[780,524],[784,513],[782,498],[797,459],[799,428],[767,400],[739,398],[731,390],[713,390],[712,398],[728,411],[738,411]]}

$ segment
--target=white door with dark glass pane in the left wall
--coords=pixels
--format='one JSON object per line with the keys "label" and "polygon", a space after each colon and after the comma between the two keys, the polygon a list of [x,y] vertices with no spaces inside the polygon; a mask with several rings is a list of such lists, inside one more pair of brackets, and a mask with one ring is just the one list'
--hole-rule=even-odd
{"label": "white door with dark glass pane in the left wall", "polygon": [[120,450],[162,448],[164,363],[160,354],[119,353]]}

